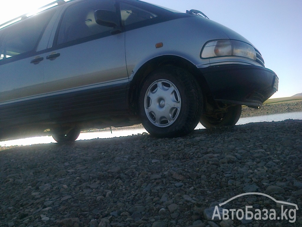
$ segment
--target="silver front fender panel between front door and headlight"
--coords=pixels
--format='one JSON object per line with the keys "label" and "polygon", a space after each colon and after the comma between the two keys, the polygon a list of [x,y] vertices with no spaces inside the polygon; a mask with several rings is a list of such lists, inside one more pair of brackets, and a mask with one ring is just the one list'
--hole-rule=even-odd
{"label": "silver front fender panel between front door and headlight", "polygon": [[[219,29],[209,28],[207,19],[178,18],[125,32],[125,53],[130,80],[151,59],[171,55],[182,57],[194,65],[209,64],[201,59],[203,45],[213,38],[228,38]],[[156,48],[162,43],[161,48]]]}

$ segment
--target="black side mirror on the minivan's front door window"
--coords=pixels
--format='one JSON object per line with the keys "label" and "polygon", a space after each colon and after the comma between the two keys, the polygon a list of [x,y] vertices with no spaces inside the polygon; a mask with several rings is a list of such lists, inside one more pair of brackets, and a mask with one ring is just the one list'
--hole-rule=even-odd
{"label": "black side mirror on the minivan's front door window", "polygon": [[117,27],[119,25],[117,14],[115,12],[98,9],[94,13],[95,22],[106,27]]}

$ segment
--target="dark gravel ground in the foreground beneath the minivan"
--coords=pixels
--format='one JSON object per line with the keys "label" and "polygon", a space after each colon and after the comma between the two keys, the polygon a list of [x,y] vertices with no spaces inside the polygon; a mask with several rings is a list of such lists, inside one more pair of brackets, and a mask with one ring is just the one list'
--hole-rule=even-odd
{"label": "dark gravel ground in the foreground beneath the minivan", "polygon": [[[0,226],[302,226],[301,151],[302,120],[14,147],[0,151]],[[297,204],[295,222],[211,220],[245,192]],[[246,205],[281,217],[265,196],[223,207]]]}

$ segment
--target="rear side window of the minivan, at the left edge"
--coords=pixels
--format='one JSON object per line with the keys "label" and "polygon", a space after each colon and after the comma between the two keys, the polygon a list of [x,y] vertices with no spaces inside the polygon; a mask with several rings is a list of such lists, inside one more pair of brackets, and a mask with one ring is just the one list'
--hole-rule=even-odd
{"label": "rear side window of the minivan, at the left edge", "polygon": [[55,10],[41,12],[0,30],[0,60],[35,51]]}

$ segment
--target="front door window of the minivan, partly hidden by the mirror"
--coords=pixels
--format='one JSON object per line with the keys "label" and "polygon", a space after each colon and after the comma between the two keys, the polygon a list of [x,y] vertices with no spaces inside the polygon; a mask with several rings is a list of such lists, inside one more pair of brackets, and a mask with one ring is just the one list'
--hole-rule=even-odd
{"label": "front door window of the minivan, partly hidden by the mirror", "polygon": [[109,35],[112,28],[95,22],[94,12],[98,9],[116,12],[115,2],[89,0],[67,8],[61,21],[56,44],[81,40],[93,35]]}

